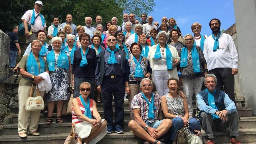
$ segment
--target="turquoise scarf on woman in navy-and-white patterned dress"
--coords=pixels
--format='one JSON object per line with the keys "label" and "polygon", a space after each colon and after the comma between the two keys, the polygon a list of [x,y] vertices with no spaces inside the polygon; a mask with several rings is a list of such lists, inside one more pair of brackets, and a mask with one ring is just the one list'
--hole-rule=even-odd
{"label": "turquoise scarf on woman in navy-and-white patterned dress", "polygon": [[[46,62],[48,64],[49,71],[55,71],[55,53],[54,50],[51,50],[46,56]],[[69,69],[69,60],[68,57],[62,49],[57,59],[57,67]]]}

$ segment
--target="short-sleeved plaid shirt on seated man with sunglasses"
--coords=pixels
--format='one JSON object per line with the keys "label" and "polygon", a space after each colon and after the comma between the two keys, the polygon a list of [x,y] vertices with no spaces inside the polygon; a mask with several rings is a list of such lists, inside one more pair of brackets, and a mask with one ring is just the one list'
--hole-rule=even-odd
{"label": "short-sleeved plaid shirt on seated man with sunglasses", "polygon": [[[151,98],[149,102],[151,102]],[[147,104],[146,100],[143,98],[141,93],[138,93],[133,97],[131,101],[131,109],[141,109],[140,116],[143,119],[143,121],[146,122],[146,120],[148,120],[150,123],[152,123],[156,121],[158,118],[159,111],[161,110],[160,104],[161,97],[157,94],[154,94],[154,106],[156,107],[156,110],[154,111],[155,119],[150,119],[148,118],[149,105]]]}

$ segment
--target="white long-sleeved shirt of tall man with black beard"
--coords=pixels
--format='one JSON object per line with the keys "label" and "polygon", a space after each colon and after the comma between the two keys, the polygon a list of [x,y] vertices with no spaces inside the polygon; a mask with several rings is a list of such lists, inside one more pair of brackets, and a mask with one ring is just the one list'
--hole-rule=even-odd
{"label": "white long-sleeved shirt of tall man with black beard", "polygon": [[221,33],[219,49],[213,51],[214,39],[210,35],[204,43],[204,56],[208,70],[219,67],[238,68],[238,54],[232,37]]}

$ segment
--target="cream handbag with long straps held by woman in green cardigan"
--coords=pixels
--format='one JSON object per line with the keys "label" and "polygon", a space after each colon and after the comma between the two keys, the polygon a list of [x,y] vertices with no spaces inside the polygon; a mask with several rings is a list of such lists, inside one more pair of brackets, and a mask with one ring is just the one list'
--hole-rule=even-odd
{"label": "cream handbag with long straps held by woman in green cardigan", "polygon": [[26,111],[40,111],[45,108],[45,103],[43,98],[39,94],[38,85],[37,86],[37,97],[32,97],[33,93],[33,83],[30,89],[29,98],[26,101],[25,109]]}

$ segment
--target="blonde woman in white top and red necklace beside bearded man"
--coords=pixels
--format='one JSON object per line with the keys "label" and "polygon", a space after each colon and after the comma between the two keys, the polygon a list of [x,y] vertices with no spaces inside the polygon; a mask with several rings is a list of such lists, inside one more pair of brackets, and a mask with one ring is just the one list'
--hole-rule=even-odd
{"label": "blonde woman in white top and red necklace beside bearded man", "polygon": [[194,33],[194,40],[195,40],[194,45],[201,47],[202,51],[204,51],[204,42],[205,42],[205,39],[208,38],[208,35],[201,35],[200,34],[201,29],[202,29],[202,25],[199,24],[198,22],[193,23],[191,26],[191,30]]}

